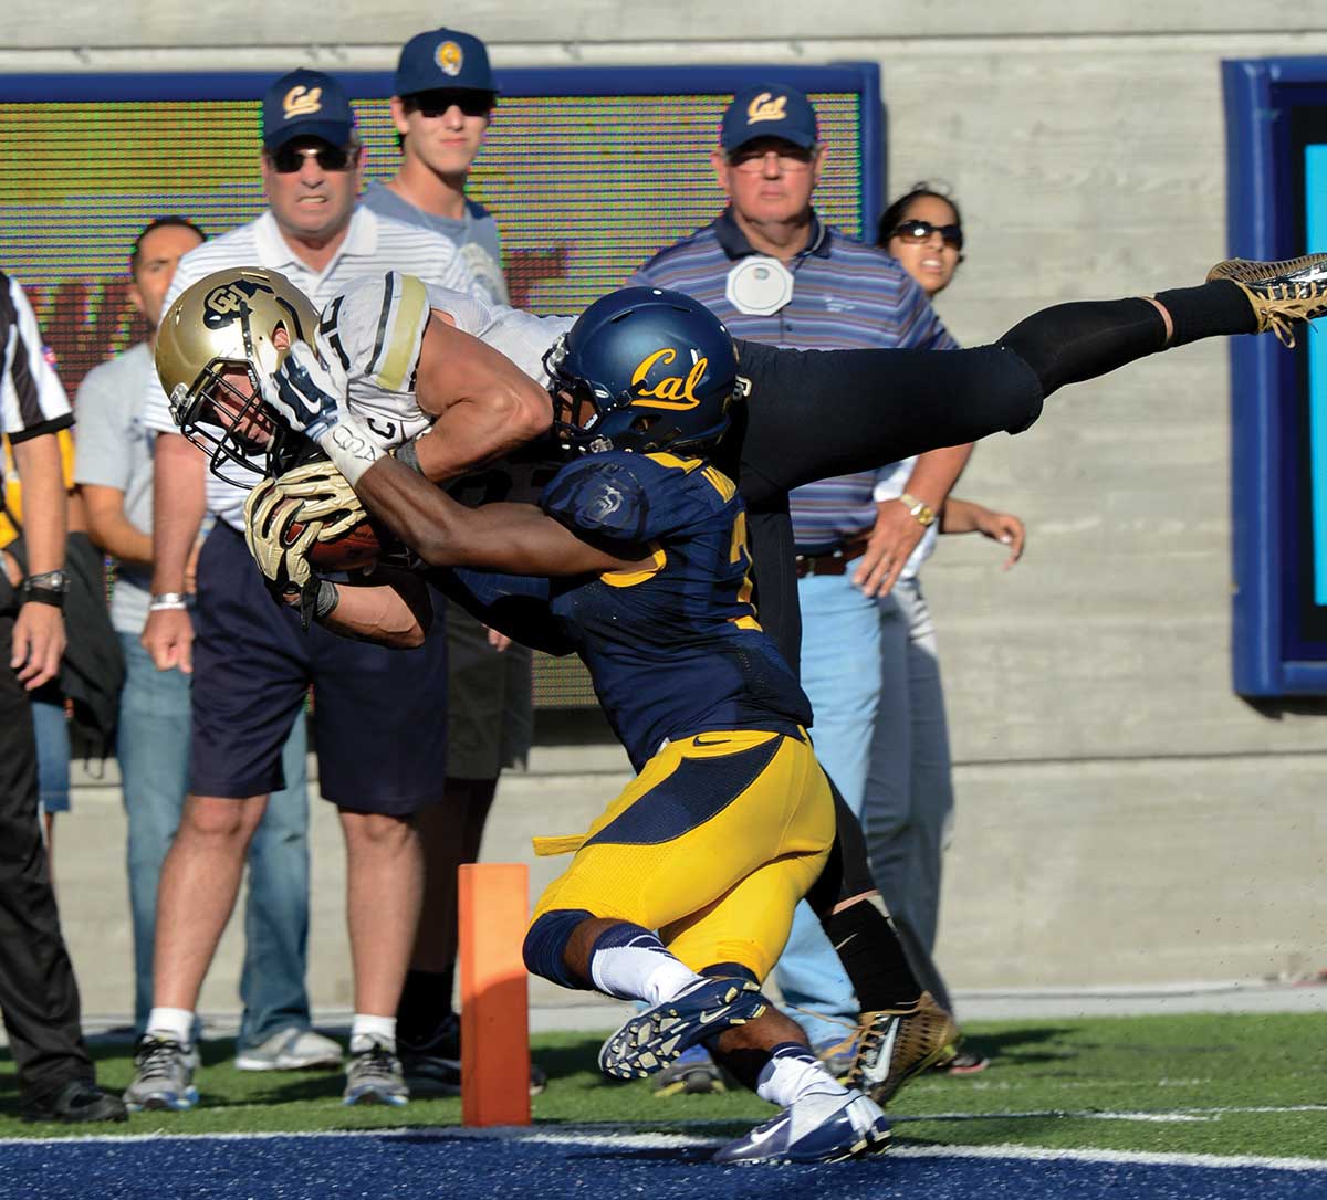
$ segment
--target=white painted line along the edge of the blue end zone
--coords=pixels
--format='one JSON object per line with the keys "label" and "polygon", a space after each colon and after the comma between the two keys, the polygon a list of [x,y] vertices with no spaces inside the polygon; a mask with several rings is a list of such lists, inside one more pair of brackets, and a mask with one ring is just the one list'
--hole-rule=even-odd
{"label": "white painted line along the edge of the blue end zone", "polygon": [[[1213,1112],[1303,1112],[1323,1111],[1327,1105],[1295,1105],[1286,1109],[1214,1109]],[[1019,1114],[1015,1114],[1019,1115]],[[1047,1114],[1031,1114],[1044,1116]],[[1079,1114],[1051,1114],[1074,1116]],[[1087,1115],[1087,1114],[1083,1114]],[[1093,1114],[1100,1115],[1100,1114]],[[1001,1119],[1002,1114],[990,1112],[989,1119]],[[909,1118],[924,1120],[928,1118]],[[933,1118],[932,1118],[933,1119]],[[690,1126],[734,1124],[727,1120],[689,1122]],[[718,1148],[729,1139],[703,1138],[694,1134],[621,1134],[612,1132],[605,1126],[583,1124],[559,1128],[532,1128],[528,1126],[495,1126],[492,1128],[471,1130],[460,1126],[431,1128],[381,1128],[381,1130],[322,1130],[318,1132],[296,1134],[173,1134],[158,1130],[150,1134],[94,1134],[86,1138],[0,1138],[0,1146],[64,1146],[68,1143],[114,1143],[125,1142],[271,1142],[276,1138],[413,1138],[438,1142],[468,1139],[494,1142],[533,1142],[551,1146],[592,1146],[620,1150],[686,1150]],[[1116,1151],[1116,1150],[1048,1150],[1034,1146],[900,1146],[889,1151],[893,1158],[905,1159],[1020,1159],[1024,1162],[1064,1162],[1083,1163],[1132,1163],[1156,1167],[1213,1167],[1213,1168],[1259,1168],[1273,1171],[1327,1171],[1327,1159],[1310,1158],[1261,1158],[1258,1155],[1214,1155],[1214,1154],[1166,1154],[1162,1151]]]}

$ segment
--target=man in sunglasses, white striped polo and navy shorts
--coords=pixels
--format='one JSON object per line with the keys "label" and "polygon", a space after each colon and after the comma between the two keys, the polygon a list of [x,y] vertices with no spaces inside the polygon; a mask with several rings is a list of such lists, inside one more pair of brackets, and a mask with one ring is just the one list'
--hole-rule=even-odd
{"label": "man in sunglasses, white striped polo and navy shorts", "polygon": [[[401,268],[431,284],[482,294],[451,241],[357,203],[361,146],[350,101],[332,76],[293,70],[268,89],[261,171],[267,211],[184,255],[165,309],[191,284],[235,267],[280,273],[314,306],[356,278]],[[206,459],[175,427],[155,378],[145,423],[158,436],[153,594],[142,640],[159,670],[192,674],[192,753],[190,797],[158,892],[153,1009],[126,1101],[147,1109],[196,1103],[198,994],[235,904],[255,829],[277,815],[268,797],[283,784],[280,749],[301,725],[312,683],[320,789],[337,805],[346,841],[354,1017],[345,1099],[405,1103],[395,1009],[422,890],[414,819],[442,798],[446,713],[434,697],[446,678],[446,638],[431,636],[401,654],[305,636],[297,621],[291,625],[271,603],[244,549],[243,508],[259,476],[208,475]],[[184,564],[204,513],[215,525],[199,558],[199,603],[191,613]],[[238,646],[243,655],[235,652]],[[381,713],[398,707],[419,713],[423,723],[413,727],[410,739],[382,724]],[[305,822],[301,808],[289,835],[303,837]],[[307,888],[303,878],[299,887]],[[303,961],[303,937],[301,930],[291,959]],[[307,1016],[301,1022],[296,1013],[281,1012],[287,1020],[263,1030],[261,1041],[242,1037],[242,1067],[309,1065]],[[313,1049],[322,1061],[328,1051],[333,1061],[340,1058],[326,1040]]]}

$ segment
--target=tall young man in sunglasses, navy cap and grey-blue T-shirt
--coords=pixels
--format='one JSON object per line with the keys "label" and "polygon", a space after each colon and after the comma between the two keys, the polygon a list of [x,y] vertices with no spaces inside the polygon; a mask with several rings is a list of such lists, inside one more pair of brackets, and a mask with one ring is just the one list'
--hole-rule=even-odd
{"label": "tall young man in sunglasses, navy cap and grey-blue T-shirt", "polygon": [[[433,229],[460,251],[490,304],[507,304],[498,223],[466,195],[498,84],[488,50],[470,33],[417,33],[397,64],[391,119],[401,166],[373,183],[374,212]],[[474,862],[503,768],[524,761],[533,724],[531,652],[491,634],[447,602],[447,782],[445,800],[421,814],[425,911],[398,1013],[397,1042],[413,1091],[460,1085],[459,1022],[451,1008],[456,968],[456,867]],[[540,1075],[535,1077],[539,1086]]]}

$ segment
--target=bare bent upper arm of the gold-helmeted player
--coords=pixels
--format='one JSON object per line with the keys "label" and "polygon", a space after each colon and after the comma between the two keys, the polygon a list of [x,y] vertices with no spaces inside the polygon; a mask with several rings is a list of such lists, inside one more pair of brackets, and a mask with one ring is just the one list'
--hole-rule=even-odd
{"label": "bare bent upper arm of the gold-helmeted player", "polygon": [[544,389],[438,312],[419,347],[415,399],[438,418],[415,443],[419,467],[434,481],[515,450],[545,432],[553,419]]}

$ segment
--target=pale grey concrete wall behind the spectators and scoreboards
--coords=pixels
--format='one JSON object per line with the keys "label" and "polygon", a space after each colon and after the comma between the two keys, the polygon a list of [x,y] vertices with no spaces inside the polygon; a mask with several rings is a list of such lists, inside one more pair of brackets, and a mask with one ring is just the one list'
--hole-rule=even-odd
{"label": "pale grey concrete wall behind the spectators and scoreboards", "polygon": [[[435,19],[322,5],[312,45],[305,5],[256,8],[9,5],[0,70],[384,68]],[[880,61],[892,190],[942,178],[963,204],[940,308],[966,342],[1198,282],[1225,248],[1221,60],[1327,53],[1327,11],[1289,0],[748,12],[504,0],[454,20],[499,66]],[[1230,690],[1227,408],[1223,347],[1192,346],[1054,398],[961,485],[1031,541],[1002,574],[994,546],[947,538],[925,574],[959,764],[941,947],[959,987],[1322,965],[1327,728]]]}

